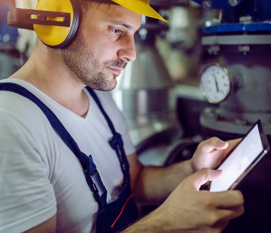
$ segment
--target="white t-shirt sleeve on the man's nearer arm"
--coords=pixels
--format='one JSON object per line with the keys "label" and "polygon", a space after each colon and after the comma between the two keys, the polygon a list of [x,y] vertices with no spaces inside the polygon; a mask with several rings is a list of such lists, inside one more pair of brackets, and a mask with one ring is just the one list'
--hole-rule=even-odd
{"label": "white t-shirt sleeve on the man's nearer arm", "polygon": [[54,216],[48,174],[27,127],[0,112],[0,232],[24,232]]}

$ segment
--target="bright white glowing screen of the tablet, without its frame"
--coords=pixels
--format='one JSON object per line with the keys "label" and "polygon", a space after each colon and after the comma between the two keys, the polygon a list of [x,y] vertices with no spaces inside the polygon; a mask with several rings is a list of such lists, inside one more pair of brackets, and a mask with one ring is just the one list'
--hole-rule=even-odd
{"label": "bright white glowing screen of the tablet, without its frame", "polygon": [[263,144],[256,124],[217,169],[223,170],[223,173],[218,179],[211,182],[210,192],[228,190],[262,151]]}

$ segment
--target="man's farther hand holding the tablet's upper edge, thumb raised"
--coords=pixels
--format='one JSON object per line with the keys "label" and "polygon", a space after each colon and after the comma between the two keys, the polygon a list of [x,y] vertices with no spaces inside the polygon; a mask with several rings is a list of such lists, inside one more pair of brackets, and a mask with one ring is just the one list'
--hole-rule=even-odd
{"label": "man's farther hand holding the tablet's upper edge, thumb raised", "polygon": [[208,140],[200,142],[190,160],[192,170],[196,172],[203,167],[217,168],[240,140],[239,138],[224,142],[218,137],[211,137]]}

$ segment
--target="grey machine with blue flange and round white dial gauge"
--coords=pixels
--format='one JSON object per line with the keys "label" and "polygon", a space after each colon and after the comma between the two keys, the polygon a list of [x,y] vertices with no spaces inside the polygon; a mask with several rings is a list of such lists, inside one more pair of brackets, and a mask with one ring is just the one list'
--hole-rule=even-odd
{"label": "grey machine with blue flange and round white dial gauge", "polygon": [[219,106],[205,109],[201,126],[207,134],[232,138],[262,119],[270,137],[270,1],[195,1],[222,9],[221,22],[209,21],[202,30],[202,45],[210,56],[201,88],[206,99]]}

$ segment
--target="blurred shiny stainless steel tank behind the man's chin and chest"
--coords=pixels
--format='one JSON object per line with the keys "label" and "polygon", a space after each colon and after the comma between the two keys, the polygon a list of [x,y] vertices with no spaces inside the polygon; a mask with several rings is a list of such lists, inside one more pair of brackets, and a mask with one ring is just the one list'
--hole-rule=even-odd
{"label": "blurred shiny stainless steel tank behind the man's chin and chest", "polygon": [[127,120],[133,143],[138,145],[156,133],[180,128],[174,82],[156,48],[137,43],[136,51],[136,61],[117,78],[112,96]]}

